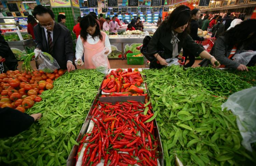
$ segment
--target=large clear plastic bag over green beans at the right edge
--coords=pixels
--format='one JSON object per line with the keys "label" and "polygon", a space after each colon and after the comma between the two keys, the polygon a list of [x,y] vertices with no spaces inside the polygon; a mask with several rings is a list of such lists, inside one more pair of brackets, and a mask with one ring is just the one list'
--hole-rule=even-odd
{"label": "large clear plastic bag over green beans at the right edge", "polygon": [[242,145],[252,151],[256,142],[256,87],[248,88],[229,96],[222,108],[230,109],[237,116],[237,126],[243,137]]}

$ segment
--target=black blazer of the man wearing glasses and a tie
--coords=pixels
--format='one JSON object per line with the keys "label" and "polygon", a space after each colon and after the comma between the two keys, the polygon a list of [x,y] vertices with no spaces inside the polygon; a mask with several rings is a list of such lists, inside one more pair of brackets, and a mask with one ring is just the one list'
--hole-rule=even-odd
{"label": "black blazer of the man wearing glasses and a tie", "polygon": [[[36,48],[39,48],[43,52],[48,51],[47,39],[45,37],[44,29],[37,24],[34,26],[35,41],[37,43]],[[53,55],[58,62],[60,69],[67,69],[67,61],[70,60],[74,64],[74,52],[73,42],[70,31],[55,22],[53,29]]]}

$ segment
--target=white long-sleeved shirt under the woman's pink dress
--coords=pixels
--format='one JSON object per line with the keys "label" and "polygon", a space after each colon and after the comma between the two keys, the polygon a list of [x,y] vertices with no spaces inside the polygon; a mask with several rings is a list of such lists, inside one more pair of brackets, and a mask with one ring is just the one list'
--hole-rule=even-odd
{"label": "white long-sleeved shirt under the woman's pink dress", "polygon": [[[93,37],[88,34],[86,41],[89,44],[97,44],[99,42],[99,40],[100,40],[100,38],[98,36],[94,37],[94,39],[93,39]],[[106,48],[109,49],[109,54],[110,54],[111,53],[111,44],[109,42],[108,35],[106,35],[106,37],[105,37],[104,45]],[[75,46],[75,58],[82,59],[83,53],[84,53],[84,45],[83,45],[82,39],[79,35],[77,38],[77,41],[76,41],[76,46]]]}

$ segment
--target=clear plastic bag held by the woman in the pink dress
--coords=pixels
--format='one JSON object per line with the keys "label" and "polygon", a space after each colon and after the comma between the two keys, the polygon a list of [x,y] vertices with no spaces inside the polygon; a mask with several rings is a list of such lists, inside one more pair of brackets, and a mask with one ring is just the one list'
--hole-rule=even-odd
{"label": "clear plastic bag held by the woman in the pink dress", "polygon": [[99,52],[98,54],[95,54],[92,58],[93,64],[96,67],[96,70],[98,72],[101,73],[108,73],[109,71],[109,60],[108,60],[108,55],[109,54],[105,54],[106,51],[108,51],[109,49],[104,48],[101,52]]}

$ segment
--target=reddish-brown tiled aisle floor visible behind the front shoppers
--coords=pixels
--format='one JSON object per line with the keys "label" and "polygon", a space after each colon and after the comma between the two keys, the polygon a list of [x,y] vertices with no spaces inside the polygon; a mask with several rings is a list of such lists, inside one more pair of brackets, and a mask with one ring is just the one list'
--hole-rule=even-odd
{"label": "reddish-brown tiled aisle floor visible behind the front shoppers", "polygon": [[[199,67],[198,63],[200,63],[200,62],[201,62],[201,60],[196,60],[192,67]],[[18,69],[20,69],[20,66],[22,65],[22,63],[23,63],[23,61],[19,61],[18,62]],[[110,63],[111,69],[118,69],[118,68],[123,68],[123,69],[126,69],[126,68],[145,68],[145,64],[143,64],[143,65],[128,65],[127,64],[127,60],[109,60],[109,63]],[[31,67],[33,69],[37,69],[35,67],[35,61],[34,60],[31,61]],[[78,66],[77,69],[81,69],[81,67]]]}

